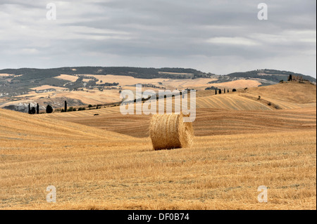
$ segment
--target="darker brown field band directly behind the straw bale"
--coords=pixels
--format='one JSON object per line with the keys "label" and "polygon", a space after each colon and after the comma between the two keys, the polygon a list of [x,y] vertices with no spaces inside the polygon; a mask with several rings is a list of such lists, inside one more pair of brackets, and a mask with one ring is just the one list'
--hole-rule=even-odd
{"label": "darker brown field band directly behind the straw bale", "polygon": [[[89,111],[64,114],[63,116],[51,114],[49,117],[58,121],[70,121],[137,138],[149,136],[150,116],[122,115],[113,109],[99,110],[99,116],[94,116]],[[196,136],[311,130],[316,129],[316,107],[264,111],[199,108],[193,125]]]}

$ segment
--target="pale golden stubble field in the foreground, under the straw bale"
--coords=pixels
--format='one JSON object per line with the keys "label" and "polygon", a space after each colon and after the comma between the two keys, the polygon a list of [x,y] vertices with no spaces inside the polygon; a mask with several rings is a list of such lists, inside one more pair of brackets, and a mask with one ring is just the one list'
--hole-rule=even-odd
{"label": "pale golden stubble field in the foreground, under the straw bale", "polygon": [[[210,121],[208,114],[201,111],[197,121]],[[221,114],[213,121],[221,124]],[[0,208],[316,209],[316,108],[254,112],[279,116],[294,129],[281,121],[271,131],[263,122],[259,131],[208,136],[194,126],[201,134],[192,147],[155,151],[149,137],[0,110]],[[242,117],[235,121],[245,123]],[[134,127],[130,132],[145,131]],[[49,185],[56,203],[46,202]],[[268,203],[257,200],[261,185]]]}

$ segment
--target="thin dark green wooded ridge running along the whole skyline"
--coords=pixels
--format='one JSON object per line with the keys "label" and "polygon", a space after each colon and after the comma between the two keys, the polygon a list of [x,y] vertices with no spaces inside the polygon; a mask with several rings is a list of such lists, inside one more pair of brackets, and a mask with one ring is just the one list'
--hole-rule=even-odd
{"label": "thin dark green wooded ridge running along the whole skyline", "polygon": [[[19,68],[19,69],[4,69],[0,70],[0,74],[14,74],[20,75],[21,77],[15,77],[14,79],[20,81],[27,81],[30,79],[47,79],[52,77],[58,77],[60,74],[116,74],[135,77],[139,79],[197,79],[216,76],[213,73],[201,72],[192,68],[181,68],[181,67],[58,67],[49,69],[37,69],[37,68]],[[218,82],[232,81],[236,79],[265,79],[268,81],[267,84],[275,84],[280,80],[287,81],[288,76],[297,75],[302,76],[304,79],[311,82],[316,82],[316,79],[305,74],[296,72],[283,71],[283,70],[252,70],[248,72],[233,72],[230,74],[218,75],[220,78]],[[264,81],[265,82],[265,81]],[[271,83],[272,82],[272,83]]]}

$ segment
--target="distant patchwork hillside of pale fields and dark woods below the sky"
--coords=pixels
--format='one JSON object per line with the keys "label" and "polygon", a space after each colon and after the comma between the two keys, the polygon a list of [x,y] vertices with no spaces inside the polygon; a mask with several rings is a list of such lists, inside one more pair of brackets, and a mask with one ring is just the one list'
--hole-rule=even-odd
{"label": "distant patchwork hillside of pale fields and dark woods below the sky", "polygon": [[[254,72],[257,73],[254,74]],[[0,107],[27,112],[29,103],[32,107],[39,103],[41,110],[45,110],[47,105],[51,105],[54,109],[61,108],[65,100],[72,107],[117,103],[120,101],[120,91],[133,90],[136,84],[142,84],[144,89],[154,91],[165,89],[173,91],[176,88],[180,90],[194,88],[197,91],[226,88],[232,91],[233,88],[244,89],[273,85],[286,74],[294,73],[256,70],[219,76],[193,69],[136,67],[0,70]],[[316,81],[312,77],[309,80]],[[210,100],[205,99],[206,102],[210,102]],[[273,100],[271,101],[273,103]],[[280,104],[278,101],[275,103]],[[292,105],[283,108],[291,107]],[[229,109],[229,107],[224,108]],[[250,107],[249,110],[253,110],[251,108],[254,107]]]}

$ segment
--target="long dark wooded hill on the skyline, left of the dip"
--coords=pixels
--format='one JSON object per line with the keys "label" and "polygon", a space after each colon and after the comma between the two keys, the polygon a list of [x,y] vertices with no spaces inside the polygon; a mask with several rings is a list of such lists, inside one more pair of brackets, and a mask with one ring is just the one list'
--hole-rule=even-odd
{"label": "long dark wooded hill on the skyline, left of the dip", "polygon": [[[6,76],[1,76],[6,74]],[[8,76],[11,74],[11,77]],[[22,95],[37,86],[58,86],[66,88],[76,88],[82,86],[81,79],[75,84],[69,81],[56,79],[61,74],[85,75],[85,74],[115,74],[120,76],[130,76],[139,79],[197,79],[209,77],[209,74],[194,69],[185,68],[142,68],[142,67],[60,67],[51,69],[5,69],[0,70],[0,98],[1,96]],[[82,76],[84,77],[84,76]],[[94,80],[98,81],[98,80]],[[95,83],[92,83],[93,86]]]}

